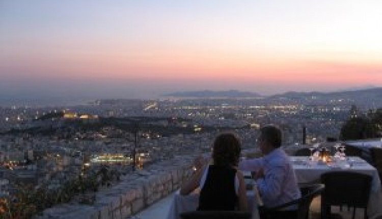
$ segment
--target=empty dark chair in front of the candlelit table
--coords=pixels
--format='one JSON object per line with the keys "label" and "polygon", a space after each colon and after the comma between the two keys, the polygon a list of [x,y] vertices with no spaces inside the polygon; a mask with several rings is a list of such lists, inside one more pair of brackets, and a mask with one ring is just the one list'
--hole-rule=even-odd
{"label": "empty dark chair in front of the candlelit table", "polygon": [[353,207],[352,218],[356,208],[364,208],[367,218],[371,176],[348,171],[328,172],[321,175],[321,183],[325,189],[321,195],[321,218],[329,218],[331,206],[347,205]]}

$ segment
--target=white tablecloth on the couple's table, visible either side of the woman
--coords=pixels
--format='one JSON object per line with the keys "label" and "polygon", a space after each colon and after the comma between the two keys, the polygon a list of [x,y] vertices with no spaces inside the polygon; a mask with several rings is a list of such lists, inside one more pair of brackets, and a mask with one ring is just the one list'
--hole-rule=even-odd
{"label": "white tablecloth on the couple's table, visible either side of the woman", "polygon": [[[257,201],[255,199],[253,190],[247,191],[248,206],[252,206],[252,218],[259,219],[259,212],[257,208]],[[174,199],[171,202],[169,214],[167,219],[180,219],[179,214],[185,211],[193,211],[198,208],[199,203],[199,191],[189,194],[187,196],[181,196],[179,190],[176,191]]]}

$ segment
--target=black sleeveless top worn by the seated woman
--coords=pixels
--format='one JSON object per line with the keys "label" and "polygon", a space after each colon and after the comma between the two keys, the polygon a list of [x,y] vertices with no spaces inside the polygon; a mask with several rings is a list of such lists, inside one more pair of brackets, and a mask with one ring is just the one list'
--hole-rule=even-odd
{"label": "black sleeveless top worn by the seated woman", "polygon": [[198,210],[235,210],[236,169],[210,165],[203,188],[200,191]]}

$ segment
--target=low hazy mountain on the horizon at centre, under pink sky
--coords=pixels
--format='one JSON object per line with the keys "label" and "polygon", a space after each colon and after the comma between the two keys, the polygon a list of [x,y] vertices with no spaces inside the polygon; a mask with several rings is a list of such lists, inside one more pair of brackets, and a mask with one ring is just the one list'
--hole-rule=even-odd
{"label": "low hazy mountain on the horizon at centre, under pink sky", "polygon": [[253,92],[242,92],[237,90],[229,91],[184,91],[163,94],[165,97],[188,97],[188,98],[244,98],[244,97],[261,97],[260,94]]}

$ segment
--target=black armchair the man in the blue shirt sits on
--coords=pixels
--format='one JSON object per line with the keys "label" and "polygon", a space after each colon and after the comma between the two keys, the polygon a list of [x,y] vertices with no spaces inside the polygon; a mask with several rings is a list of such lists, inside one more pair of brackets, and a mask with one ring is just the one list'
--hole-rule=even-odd
{"label": "black armchair the man in the blue shirt sits on", "polygon": [[[272,208],[262,208],[260,217],[266,219],[307,219],[312,200],[324,190],[323,184],[313,184],[301,187],[302,197]],[[297,206],[297,210],[285,210],[287,207]]]}

